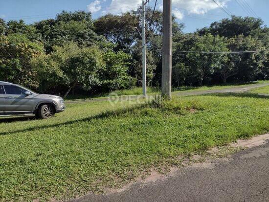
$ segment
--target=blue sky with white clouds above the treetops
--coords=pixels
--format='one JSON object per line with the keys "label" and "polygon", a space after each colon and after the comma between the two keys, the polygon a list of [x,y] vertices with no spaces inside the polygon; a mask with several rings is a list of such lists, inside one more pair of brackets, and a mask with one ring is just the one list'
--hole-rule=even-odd
{"label": "blue sky with white clouds above the treetops", "polygon": [[[269,24],[269,0],[216,0],[233,15],[255,16],[247,4],[265,24]],[[213,0],[172,0],[173,13],[184,22],[185,32],[208,26],[211,22],[229,17]],[[149,1],[153,6],[155,0]],[[94,19],[107,13],[118,14],[135,9],[141,0],[0,0],[0,18],[5,21],[23,19],[26,23],[54,18],[62,10],[91,11]],[[240,4],[240,5],[239,5]],[[157,0],[157,9],[162,0]]]}

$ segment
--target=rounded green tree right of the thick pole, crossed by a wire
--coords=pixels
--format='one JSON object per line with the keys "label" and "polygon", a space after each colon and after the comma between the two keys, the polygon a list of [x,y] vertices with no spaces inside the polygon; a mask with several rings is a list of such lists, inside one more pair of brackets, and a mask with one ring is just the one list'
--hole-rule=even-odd
{"label": "rounded green tree right of the thick pole, crossed by a wire", "polygon": [[[214,37],[207,34],[200,37],[190,51],[222,52],[228,51],[228,49],[223,37]],[[212,75],[214,71],[221,67],[222,63],[227,61],[225,54],[188,53],[187,58],[200,86],[204,79]]]}

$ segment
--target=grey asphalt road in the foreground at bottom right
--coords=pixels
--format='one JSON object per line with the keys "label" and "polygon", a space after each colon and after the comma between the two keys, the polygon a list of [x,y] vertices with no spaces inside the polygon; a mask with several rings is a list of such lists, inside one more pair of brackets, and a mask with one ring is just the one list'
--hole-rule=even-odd
{"label": "grey asphalt road in the foreground at bottom right", "polygon": [[73,202],[269,202],[269,143],[185,167],[172,176],[136,182],[121,192],[90,194]]}

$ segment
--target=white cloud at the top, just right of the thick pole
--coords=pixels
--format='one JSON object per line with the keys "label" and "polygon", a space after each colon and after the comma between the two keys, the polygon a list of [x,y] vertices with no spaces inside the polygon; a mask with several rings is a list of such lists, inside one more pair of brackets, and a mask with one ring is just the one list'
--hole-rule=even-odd
{"label": "white cloud at the top, just right of the thick pole", "polygon": [[[223,6],[227,6],[229,0],[217,0]],[[172,0],[173,7],[178,7],[188,10],[189,14],[205,14],[210,10],[219,8],[219,6],[212,0]]]}

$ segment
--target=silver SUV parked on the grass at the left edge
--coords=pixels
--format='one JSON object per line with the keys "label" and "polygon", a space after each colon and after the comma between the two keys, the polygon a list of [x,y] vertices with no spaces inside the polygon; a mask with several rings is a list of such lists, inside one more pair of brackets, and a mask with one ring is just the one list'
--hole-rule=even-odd
{"label": "silver SUV parked on the grass at the left edge", "polygon": [[64,100],[59,96],[38,94],[0,81],[0,116],[36,115],[45,119],[65,109]]}

